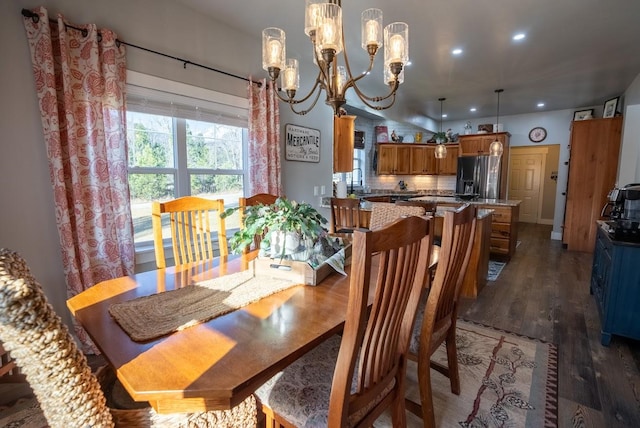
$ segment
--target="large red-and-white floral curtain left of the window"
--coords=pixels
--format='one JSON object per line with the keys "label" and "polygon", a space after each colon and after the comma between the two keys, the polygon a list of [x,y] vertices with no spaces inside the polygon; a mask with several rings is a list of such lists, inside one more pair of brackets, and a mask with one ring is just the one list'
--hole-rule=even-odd
{"label": "large red-and-white floral curtain left of the window", "polygon": [[[124,45],[95,25],[67,27],[47,10],[25,18],[49,158],[68,296],[133,273],[127,181]],[[85,352],[95,351],[84,330]]]}

